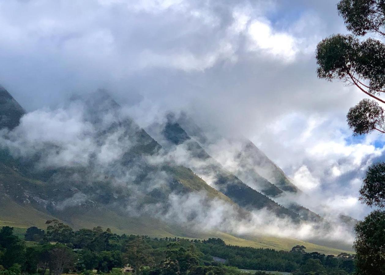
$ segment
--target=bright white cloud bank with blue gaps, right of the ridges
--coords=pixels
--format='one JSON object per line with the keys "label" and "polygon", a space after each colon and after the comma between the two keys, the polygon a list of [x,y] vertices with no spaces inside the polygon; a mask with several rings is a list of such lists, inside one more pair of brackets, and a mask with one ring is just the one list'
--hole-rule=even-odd
{"label": "bright white cloud bank with blue gaps, right of the ridges", "polygon": [[317,213],[332,210],[358,219],[370,212],[358,201],[358,190],[367,167],[382,158],[382,136],[353,138],[345,121],[332,114],[287,115],[270,128],[255,140],[311,197],[301,203]]}

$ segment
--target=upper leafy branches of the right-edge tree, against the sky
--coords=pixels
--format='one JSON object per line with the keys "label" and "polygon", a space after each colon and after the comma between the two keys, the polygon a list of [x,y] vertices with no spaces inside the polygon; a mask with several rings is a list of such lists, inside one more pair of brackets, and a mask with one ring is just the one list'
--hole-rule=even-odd
{"label": "upper leafy branches of the right-edge tree, against the sky", "polygon": [[[383,0],[342,0],[338,12],[353,35],[377,33],[385,37]],[[364,99],[351,108],[348,125],[357,135],[377,130],[385,133],[384,111],[378,102],[385,93],[385,44],[380,39],[359,39],[353,35],[332,35],[316,48],[317,75],[332,81],[343,80],[355,85],[371,99]]]}

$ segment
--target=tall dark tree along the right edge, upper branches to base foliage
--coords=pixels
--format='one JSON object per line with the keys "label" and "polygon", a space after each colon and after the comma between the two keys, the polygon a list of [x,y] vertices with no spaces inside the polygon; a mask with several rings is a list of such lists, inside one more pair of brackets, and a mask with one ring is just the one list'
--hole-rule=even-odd
{"label": "tall dark tree along the right edge, upper branches to base foliage", "polygon": [[[352,34],[332,35],[318,43],[317,75],[329,81],[343,80],[367,96],[346,115],[353,135],[385,133],[385,0],[341,0],[337,9]],[[385,164],[372,165],[363,181],[360,200],[370,207],[383,208],[384,180]],[[357,274],[385,274],[384,218],[385,212],[376,210],[355,228]]]}

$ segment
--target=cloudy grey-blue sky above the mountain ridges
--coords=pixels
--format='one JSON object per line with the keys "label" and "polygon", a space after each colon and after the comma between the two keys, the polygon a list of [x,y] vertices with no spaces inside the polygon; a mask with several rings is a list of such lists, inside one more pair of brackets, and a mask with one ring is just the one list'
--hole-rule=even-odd
{"label": "cloudy grey-blue sky above the mountain ridges", "polygon": [[316,78],[346,32],[336,0],[0,0],[0,83],[28,111],[104,87],[146,127],[186,110],[240,133],[310,195],[355,218],[383,138],[352,138],[354,87]]}

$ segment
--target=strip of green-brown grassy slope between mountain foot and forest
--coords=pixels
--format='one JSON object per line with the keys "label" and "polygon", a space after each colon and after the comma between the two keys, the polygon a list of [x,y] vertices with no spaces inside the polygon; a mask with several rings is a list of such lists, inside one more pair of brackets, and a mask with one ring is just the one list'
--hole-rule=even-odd
{"label": "strip of green-brown grassy slope between mountain foot and forest", "polygon": [[193,232],[188,228],[177,225],[169,225],[151,217],[129,217],[119,215],[108,208],[93,208],[86,212],[65,212],[57,217],[36,210],[31,205],[20,205],[7,197],[0,200],[0,226],[12,226],[16,235],[23,237],[26,228],[36,226],[46,228],[45,222],[59,218],[74,229],[93,228],[100,225],[109,227],[117,234],[148,235],[154,237],[183,237],[183,238],[221,238],[227,244],[247,246],[254,248],[272,248],[275,250],[291,250],[295,245],[304,245],[308,252],[320,252],[324,254],[338,255],[341,252],[352,251],[316,245],[301,240],[290,238],[278,238],[271,236],[235,236],[223,232]]}

